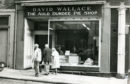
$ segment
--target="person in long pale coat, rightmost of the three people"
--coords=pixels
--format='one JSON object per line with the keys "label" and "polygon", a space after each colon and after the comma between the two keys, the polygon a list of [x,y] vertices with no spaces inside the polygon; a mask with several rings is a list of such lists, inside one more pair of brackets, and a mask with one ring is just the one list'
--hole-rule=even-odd
{"label": "person in long pale coat, rightmost of the three people", "polygon": [[52,48],[52,68],[57,74],[57,68],[60,68],[59,53],[55,48]]}

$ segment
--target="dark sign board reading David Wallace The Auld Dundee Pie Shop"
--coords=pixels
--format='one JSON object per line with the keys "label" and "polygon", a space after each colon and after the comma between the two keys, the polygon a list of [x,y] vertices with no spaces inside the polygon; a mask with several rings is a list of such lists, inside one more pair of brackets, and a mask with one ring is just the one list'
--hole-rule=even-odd
{"label": "dark sign board reading David Wallace The Auld Dundee Pie Shop", "polygon": [[101,16],[101,5],[28,6],[25,16]]}

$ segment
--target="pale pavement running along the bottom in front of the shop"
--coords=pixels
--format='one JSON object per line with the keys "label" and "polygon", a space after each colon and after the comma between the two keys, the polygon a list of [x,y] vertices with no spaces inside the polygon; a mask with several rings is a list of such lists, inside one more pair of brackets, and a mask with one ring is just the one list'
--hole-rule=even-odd
{"label": "pale pavement running along the bottom in front of the shop", "polygon": [[[5,80],[6,79],[6,80]],[[83,76],[74,74],[62,74],[57,75],[50,73],[49,75],[44,75],[41,73],[39,77],[34,76],[34,70],[15,70],[5,68],[0,72],[0,84],[22,84],[22,83],[4,83],[8,80],[20,80],[20,81],[31,81],[39,82],[37,84],[127,84],[128,77],[125,79],[118,79],[115,77],[96,77],[96,76]],[[24,83],[27,84],[27,83]],[[33,84],[33,83],[28,83]]]}

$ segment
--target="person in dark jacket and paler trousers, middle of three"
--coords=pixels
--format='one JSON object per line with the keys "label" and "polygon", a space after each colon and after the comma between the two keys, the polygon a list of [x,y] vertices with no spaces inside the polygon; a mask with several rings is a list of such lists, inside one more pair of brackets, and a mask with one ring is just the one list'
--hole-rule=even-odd
{"label": "person in dark jacket and paler trousers, middle of three", "polygon": [[45,44],[45,49],[43,50],[44,63],[45,63],[45,75],[48,75],[50,72],[50,63],[51,63],[51,54],[52,50],[49,48],[48,44]]}

